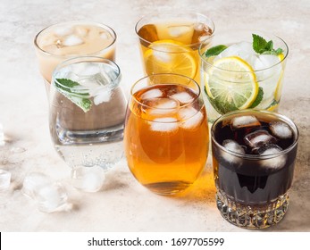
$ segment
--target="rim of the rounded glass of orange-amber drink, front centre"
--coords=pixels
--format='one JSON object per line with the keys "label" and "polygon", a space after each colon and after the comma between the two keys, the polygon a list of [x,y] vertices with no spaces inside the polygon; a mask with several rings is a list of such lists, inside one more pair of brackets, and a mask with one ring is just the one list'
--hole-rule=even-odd
{"label": "rim of the rounded glass of orange-amber drink, front centre", "polygon": [[[142,104],[141,102],[139,102],[138,101],[138,99],[136,98],[136,96],[133,96],[134,95],[134,93],[133,93],[133,88],[134,87],[136,87],[137,85],[138,85],[138,83],[139,82],[142,82],[144,79],[150,79],[150,78],[152,78],[152,77],[160,77],[160,76],[176,76],[176,77],[180,77],[180,78],[186,78],[186,79],[189,79],[189,81],[192,81],[192,82],[194,82],[194,84],[197,86],[197,92],[196,92],[196,94],[197,94],[197,96],[195,96],[195,98],[193,98],[193,100],[190,102],[190,103],[188,103],[188,104],[185,104],[185,105],[182,105],[182,106],[180,106],[180,107],[176,107],[176,108],[155,108],[155,107],[152,107],[152,106],[149,106],[149,105],[147,105],[147,104]],[[173,85],[180,85],[180,86],[183,86],[182,84],[180,84],[180,83],[172,83]],[[169,85],[169,84],[166,84],[166,83],[159,83],[159,84],[154,84],[154,85],[149,85],[149,86],[164,86],[164,85]],[[147,87],[149,87],[149,86],[147,86]],[[146,89],[147,87],[142,87],[142,88],[140,88],[140,89],[138,89],[138,91],[140,91],[140,90],[142,90],[142,89]],[[189,87],[190,89],[193,89],[192,87]],[[135,92],[136,93],[136,92]],[[189,78],[189,77],[187,77],[187,76],[184,76],[184,75],[180,75],[180,74],[175,74],[175,73],[157,73],[157,74],[151,74],[151,75],[147,75],[147,76],[145,76],[145,77],[143,77],[143,78],[141,78],[141,79],[138,79],[133,85],[132,85],[132,87],[130,88],[130,97],[132,97],[134,100],[135,100],[135,102],[137,103],[137,104],[140,104],[141,106],[145,106],[145,107],[147,107],[147,108],[151,108],[151,109],[155,109],[155,110],[165,110],[165,111],[167,111],[167,110],[177,110],[177,109],[182,109],[182,108],[185,108],[185,107],[187,107],[188,105],[190,105],[190,104],[193,104],[195,101],[197,101],[197,99],[199,98],[199,96],[201,95],[201,89],[200,89],[200,87],[199,87],[199,85],[198,85],[198,83],[197,83],[197,81],[195,80],[195,79],[191,79],[191,78]]]}

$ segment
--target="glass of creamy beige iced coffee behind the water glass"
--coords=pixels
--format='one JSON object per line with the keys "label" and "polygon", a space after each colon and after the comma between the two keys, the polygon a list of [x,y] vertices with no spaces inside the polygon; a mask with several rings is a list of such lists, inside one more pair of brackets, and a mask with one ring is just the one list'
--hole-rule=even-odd
{"label": "glass of creamy beige iced coffee behind the water glass", "polygon": [[60,22],[41,30],[34,43],[46,91],[59,63],[78,55],[94,55],[114,61],[116,34],[110,27],[92,21]]}

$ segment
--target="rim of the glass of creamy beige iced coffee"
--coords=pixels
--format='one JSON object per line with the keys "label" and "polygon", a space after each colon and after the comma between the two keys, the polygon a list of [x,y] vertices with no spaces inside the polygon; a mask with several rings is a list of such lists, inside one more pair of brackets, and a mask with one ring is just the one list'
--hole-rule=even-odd
{"label": "rim of the glass of creamy beige iced coffee", "polygon": [[58,25],[66,25],[66,24],[91,24],[91,25],[94,25],[96,27],[100,27],[100,28],[103,28],[103,29],[106,29],[108,30],[112,35],[113,35],[113,41],[112,43],[109,45],[109,46],[105,46],[104,48],[94,52],[94,53],[91,53],[91,54],[86,54],[88,56],[92,56],[92,55],[96,55],[98,54],[99,52],[101,51],[105,51],[106,49],[108,49],[109,47],[113,46],[113,44],[116,42],[116,33],[115,31],[108,25],[106,24],[103,24],[103,23],[100,23],[100,22],[96,22],[96,21],[60,21],[60,22],[56,22],[54,24],[51,24],[49,26],[47,26],[46,28],[44,29],[41,29],[38,34],[35,36],[34,40],[33,40],[33,43],[35,45],[35,47],[38,48],[38,50],[40,52],[42,52],[43,54],[47,54],[47,55],[51,55],[51,56],[55,56],[55,57],[59,57],[59,58],[65,58],[65,57],[68,57],[68,56],[72,56],[72,57],[77,57],[77,56],[81,56],[79,54],[67,54],[67,55],[63,55],[63,54],[52,54],[52,53],[49,53],[48,51],[42,49],[39,45],[38,45],[38,37],[43,33],[45,32],[47,29],[52,29]]}

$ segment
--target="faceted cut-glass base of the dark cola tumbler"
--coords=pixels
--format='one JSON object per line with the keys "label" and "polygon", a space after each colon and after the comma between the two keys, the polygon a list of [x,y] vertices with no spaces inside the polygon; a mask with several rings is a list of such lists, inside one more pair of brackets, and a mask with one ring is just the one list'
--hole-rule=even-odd
{"label": "faceted cut-glass base of the dark cola tumbler", "polygon": [[245,229],[265,229],[282,220],[289,206],[289,196],[284,194],[269,204],[239,204],[221,190],[216,193],[216,204],[222,217],[231,224]]}

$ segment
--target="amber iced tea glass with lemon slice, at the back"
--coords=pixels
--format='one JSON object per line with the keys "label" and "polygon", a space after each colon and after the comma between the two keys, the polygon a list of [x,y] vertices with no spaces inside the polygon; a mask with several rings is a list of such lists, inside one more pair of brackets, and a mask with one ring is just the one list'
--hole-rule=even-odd
{"label": "amber iced tea glass with lemon slice, at the back", "polygon": [[160,12],[136,24],[147,75],[176,73],[200,81],[198,47],[214,34],[214,22],[195,12]]}

